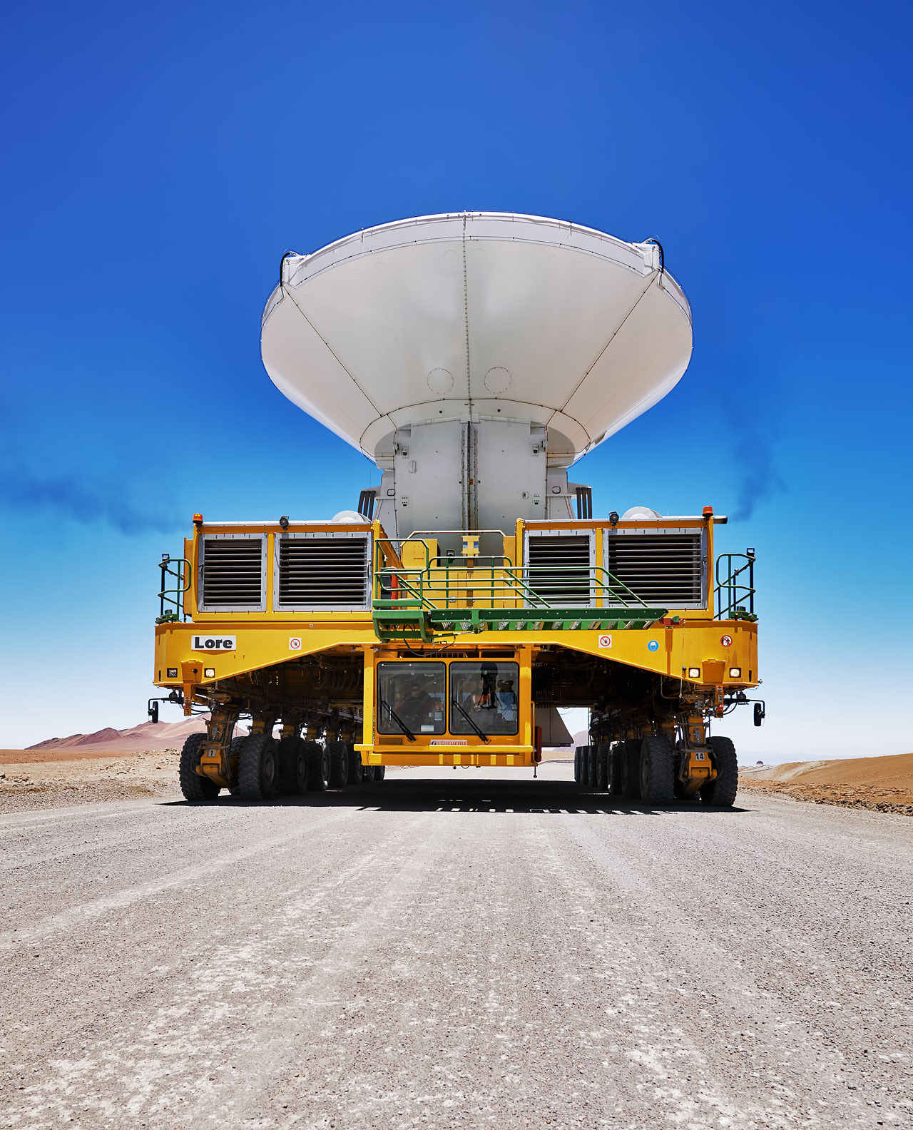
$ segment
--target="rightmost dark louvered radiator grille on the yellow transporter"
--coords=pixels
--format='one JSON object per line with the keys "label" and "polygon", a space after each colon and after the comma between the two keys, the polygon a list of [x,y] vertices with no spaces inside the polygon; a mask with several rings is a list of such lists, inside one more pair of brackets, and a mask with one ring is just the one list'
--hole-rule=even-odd
{"label": "rightmost dark louvered radiator grille on the yellow transporter", "polygon": [[[646,605],[701,605],[703,560],[699,533],[610,533],[609,573]],[[624,592],[618,603],[629,601]]]}

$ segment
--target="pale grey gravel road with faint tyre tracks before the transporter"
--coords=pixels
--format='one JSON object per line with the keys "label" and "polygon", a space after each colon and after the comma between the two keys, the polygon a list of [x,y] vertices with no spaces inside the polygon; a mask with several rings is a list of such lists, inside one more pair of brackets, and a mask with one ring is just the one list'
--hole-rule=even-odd
{"label": "pale grey gravel road with faint tyre tracks before the transporter", "polygon": [[913,1125],[913,819],[505,772],[0,817],[0,1125]]}

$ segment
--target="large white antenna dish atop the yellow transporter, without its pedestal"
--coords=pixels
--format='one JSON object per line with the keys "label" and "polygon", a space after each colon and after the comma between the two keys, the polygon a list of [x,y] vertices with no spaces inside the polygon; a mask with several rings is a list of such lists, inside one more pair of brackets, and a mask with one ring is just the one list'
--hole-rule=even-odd
{"label": "large white antenna dish atop the yellow transporter, without its pedestal", "polygon": [[502,212],[366,228],[282,261],[275,384],[369,459],[407,425],[515,420],[565,466],[672,389],[692,315],[654,243]]}

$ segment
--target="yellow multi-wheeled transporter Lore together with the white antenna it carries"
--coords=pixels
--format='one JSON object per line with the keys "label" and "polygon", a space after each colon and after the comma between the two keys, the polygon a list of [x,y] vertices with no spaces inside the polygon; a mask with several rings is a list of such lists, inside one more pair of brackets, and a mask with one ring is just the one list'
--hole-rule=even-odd
{"label": "yellow multi-wheeled transporter Lore together with the white antenna it carries", "polygon": [[658,244],[486,212],[383,225],[284,257],[262,350],[381,483],[330,521],[195,515],[163,559],[155,681],[211,712],[188,800],[534,771],[569,744],[558,707],[584,706],[582,785],[732,803],[734,747],[708,731],[758,683],[754,550],[716,558],[708,506],[594,520],[567,481],[687,367]]}

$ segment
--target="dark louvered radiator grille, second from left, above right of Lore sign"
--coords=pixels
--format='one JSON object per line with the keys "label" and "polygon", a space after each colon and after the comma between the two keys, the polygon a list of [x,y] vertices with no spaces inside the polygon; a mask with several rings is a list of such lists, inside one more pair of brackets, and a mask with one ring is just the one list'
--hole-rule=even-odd
{"label": "dark louvered radiator grille, second from left, above right of Lore sign", "polygon": [[366,538],[282,538],[279,605],[367,607]]}

